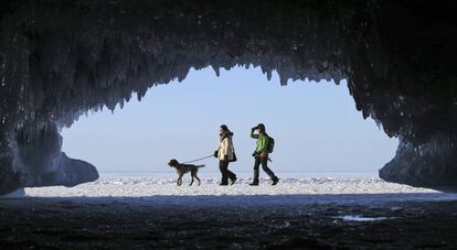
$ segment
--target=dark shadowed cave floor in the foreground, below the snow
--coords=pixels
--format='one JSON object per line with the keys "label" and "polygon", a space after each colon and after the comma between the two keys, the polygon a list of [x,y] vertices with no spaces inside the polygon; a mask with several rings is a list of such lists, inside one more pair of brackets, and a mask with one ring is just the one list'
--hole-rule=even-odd
{"label": "dark shadowed cave floor in the foreground, below the snow", "polygon": [[[176,197],[170,199],[176,202]],[[217,198],[209,200],[214,199]],[[148,205],[141,198],[127,203],[0,199],[0,246],[4,249],[457,248],[455,200],[370,205],[294,202],[247,207],[202,202],[201,206],[194,206],[184,202]],[[341,219],[347,215],[386,219]]]}

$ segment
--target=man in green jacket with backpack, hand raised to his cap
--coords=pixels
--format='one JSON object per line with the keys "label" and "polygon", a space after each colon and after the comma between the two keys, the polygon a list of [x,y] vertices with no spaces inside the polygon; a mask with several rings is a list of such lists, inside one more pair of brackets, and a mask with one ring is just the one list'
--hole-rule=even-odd
{"label": "man in green jacket with backpack, hand raised to his cap", "polygon": [[[255,131],[258,130],[258,133],[255,133]],[[265,131],[265,126],[259,123],[258,126],[251,129],[251,138],[257,139],[257,146],[253,153],[253,156],[255,159],[254,162],[254,180],[253,183],[251,183],[251,186],[258,186],[258,169],[262,164],[262,169],[265,171],[265,173],[272,178],[273,183],[272,185],[276,185],[279,181],[278,177],[276,177],[275,173],[270,169],[268,169],[268,143],[270,138]]]}

